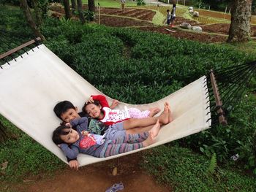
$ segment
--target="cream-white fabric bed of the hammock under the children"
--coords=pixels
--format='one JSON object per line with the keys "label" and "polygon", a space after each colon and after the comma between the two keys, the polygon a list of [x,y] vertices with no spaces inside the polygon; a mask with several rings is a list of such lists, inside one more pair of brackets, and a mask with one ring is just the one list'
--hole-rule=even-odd
{"label": "cream-white fabric bed of the hammock under the children", "polygon": [[[45,45],[39,45],[24,53],[22,58],[19,56],[2,65],[0,88],[1,115],[66,163],[66,157],[51,140],[54,128],[60,123],[53,112],[53,107],[59,101],[69,100],[81,110],[80,107],[89,96],[104,95],[64,64]],[[113,100],[106,97],[109,102]],[[139,149],[144,150],[209,128],[211,112],[208,98],[206,77],[203,76],[154,103],[140,105],[121,103],[118,107],[124,108],[126,105],[138,107],[140,110],[151,107],[163,109],[165,101],[170,103],[173,122],[162,126],[154,145]],[[84,166],[129,153],[108,158],[79,154],[78,161],[80,166]]]}

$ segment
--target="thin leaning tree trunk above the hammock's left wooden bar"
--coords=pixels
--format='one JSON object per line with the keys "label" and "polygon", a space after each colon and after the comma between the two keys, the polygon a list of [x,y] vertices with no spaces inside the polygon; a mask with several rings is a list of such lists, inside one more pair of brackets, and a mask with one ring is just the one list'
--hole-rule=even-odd
{"label": "thin leaning tree trunk above the hammock's left wooden bar", "polygon": [[29,26],[32,28],[35,36],[40,37],[42,39],[42,41],[45,41],[45,37],[40,33],[39,29],[37,28],[36,24],[34,23],[34,20],[31,15],[31,11],[29,9],[28,2],[26,0],[20,0],[20,9],[23,10],[26,20],[29,23]]}

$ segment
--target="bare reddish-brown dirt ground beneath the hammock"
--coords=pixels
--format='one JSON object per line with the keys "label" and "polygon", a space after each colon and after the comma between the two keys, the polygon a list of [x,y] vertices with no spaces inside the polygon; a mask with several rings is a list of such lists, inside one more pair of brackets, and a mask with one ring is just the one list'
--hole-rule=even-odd
{"label": "bare reddish-brown dirt ground beneath the hammock", "polygon": [[[124,183],[122,191],[138,192],[167,192],[171,188],[162,186],[145,171],[140,169],[143,152],[126,155],[121,158],[104,161],[98,164],[83,166],[78,171],[69,168],[53,174],[52,177],[26,178],[18,185],[7,186],[7,191],[20,192],[104,192],[115,183]],[[146,162],[144,162],[146,163]],[[113,176],[113,168],[117,167],[117,174]]]}

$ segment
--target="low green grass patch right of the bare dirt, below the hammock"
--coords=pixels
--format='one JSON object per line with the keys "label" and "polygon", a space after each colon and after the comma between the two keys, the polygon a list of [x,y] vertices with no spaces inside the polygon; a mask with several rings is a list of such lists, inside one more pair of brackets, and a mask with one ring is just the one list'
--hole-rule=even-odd
{"label": "low green grass patch right of the bare dirt, below the hammock", "polygon": [[209,172],[211,160],[187,148],[162,145],[148,153],[141,166],[173,191],[255,191],[255,177],[219,166]]}

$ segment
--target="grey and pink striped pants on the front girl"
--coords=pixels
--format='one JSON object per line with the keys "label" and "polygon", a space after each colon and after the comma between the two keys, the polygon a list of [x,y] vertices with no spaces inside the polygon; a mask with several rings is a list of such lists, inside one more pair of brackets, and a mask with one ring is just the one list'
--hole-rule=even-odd
{"label": "grey and pink striped pants on the front girl", "polygon": [[144,132],[142,134],[127,134],[126,136],[118,137],[115,140],[106,140],[99,157],[105,158],[140,149],[144,147],[142,142],[147,138],[148,132]]}

